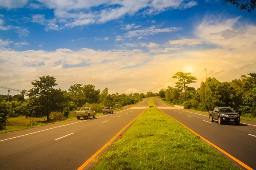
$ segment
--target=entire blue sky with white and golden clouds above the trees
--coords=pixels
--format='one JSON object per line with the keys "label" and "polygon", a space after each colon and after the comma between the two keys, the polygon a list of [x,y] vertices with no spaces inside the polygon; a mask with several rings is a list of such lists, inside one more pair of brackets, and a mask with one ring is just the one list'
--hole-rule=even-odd
{"label": "entire blue sky with white and golden clouds above the trees", "polygon": [[[215,0],[1,1],[0,84],[29,89],[32,80],[50,74],[65,90],[88,82],[113,93],[155,92],[173,85],[166,74],[179,68],[200,84],[203,67],[229,81],[252,68],[240,69],[254,63],[255,25],[255,12]],[[249,53],[245,60],[243,50]],[[222,58],[236,61],[231,76],[227,68],[208,65]],[[152,68],[158,78],[150,78]],[[88,81],[81,80],[84,75]]]}

